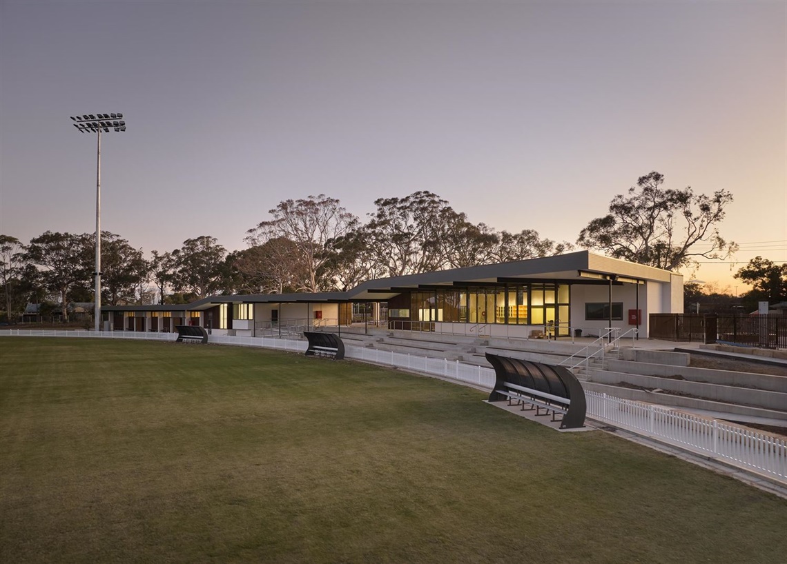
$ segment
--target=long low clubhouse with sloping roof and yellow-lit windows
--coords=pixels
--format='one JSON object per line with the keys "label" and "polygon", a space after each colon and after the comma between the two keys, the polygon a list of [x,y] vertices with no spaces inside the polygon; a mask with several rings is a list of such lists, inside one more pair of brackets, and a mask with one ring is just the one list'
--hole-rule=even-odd
{"label": "long low clubhouse with sloping roof and yellow-lit windows", "polygon": [[[683,312],[683,277],[577,251],[525,261],[368,280],[349,291],[216,295],[186,305],[104,306],[109,331],[270,336],[282,328],[389,329],[530,338],[598,335],[604,328],[648,336],[651,313]],[[301,329],[302,330],[302,329]]]}

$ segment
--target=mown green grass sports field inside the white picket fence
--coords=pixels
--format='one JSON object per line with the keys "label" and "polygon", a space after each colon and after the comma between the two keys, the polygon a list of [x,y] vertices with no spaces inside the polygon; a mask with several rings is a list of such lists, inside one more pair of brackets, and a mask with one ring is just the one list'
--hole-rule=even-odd
{"label": "mown green grass sports field inside the white picket fence", "polygon": [[787,502],[452,383],[0,338],[2,562],[779,562]]}

